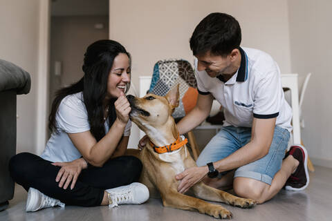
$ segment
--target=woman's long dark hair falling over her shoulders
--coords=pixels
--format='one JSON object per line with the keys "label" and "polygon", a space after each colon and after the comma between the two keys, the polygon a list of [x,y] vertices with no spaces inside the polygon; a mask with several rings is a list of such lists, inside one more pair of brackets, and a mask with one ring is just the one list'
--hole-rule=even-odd
{"label": "woman's long dark hair falling over her shoulders", "polygon": [[[61,88],[57,91],[55,99],[52,103],[50,116],[48,117],[48,128],[51,133],[57,133],[57,124],[55,117],[57,109],[62,99],[67,95],[83,92],[84,104],[88,113],[90,131],[99,141],[105,135],[104,129],[104,107],[103,101],[107,94],[107,81],[109,73],[113,65],[113,60],[120,53],[124,53],[129,57],[129,65],[131,58],[129,52],[117,41],[99,40],[91,44],[84,54],[84,64],[82,70],[84,77],[71,86]],[[127,90],[129,85],[127,86]],[[116,109],[114,107],[115,99],[109,102],[109,126],[116,120]]]}

